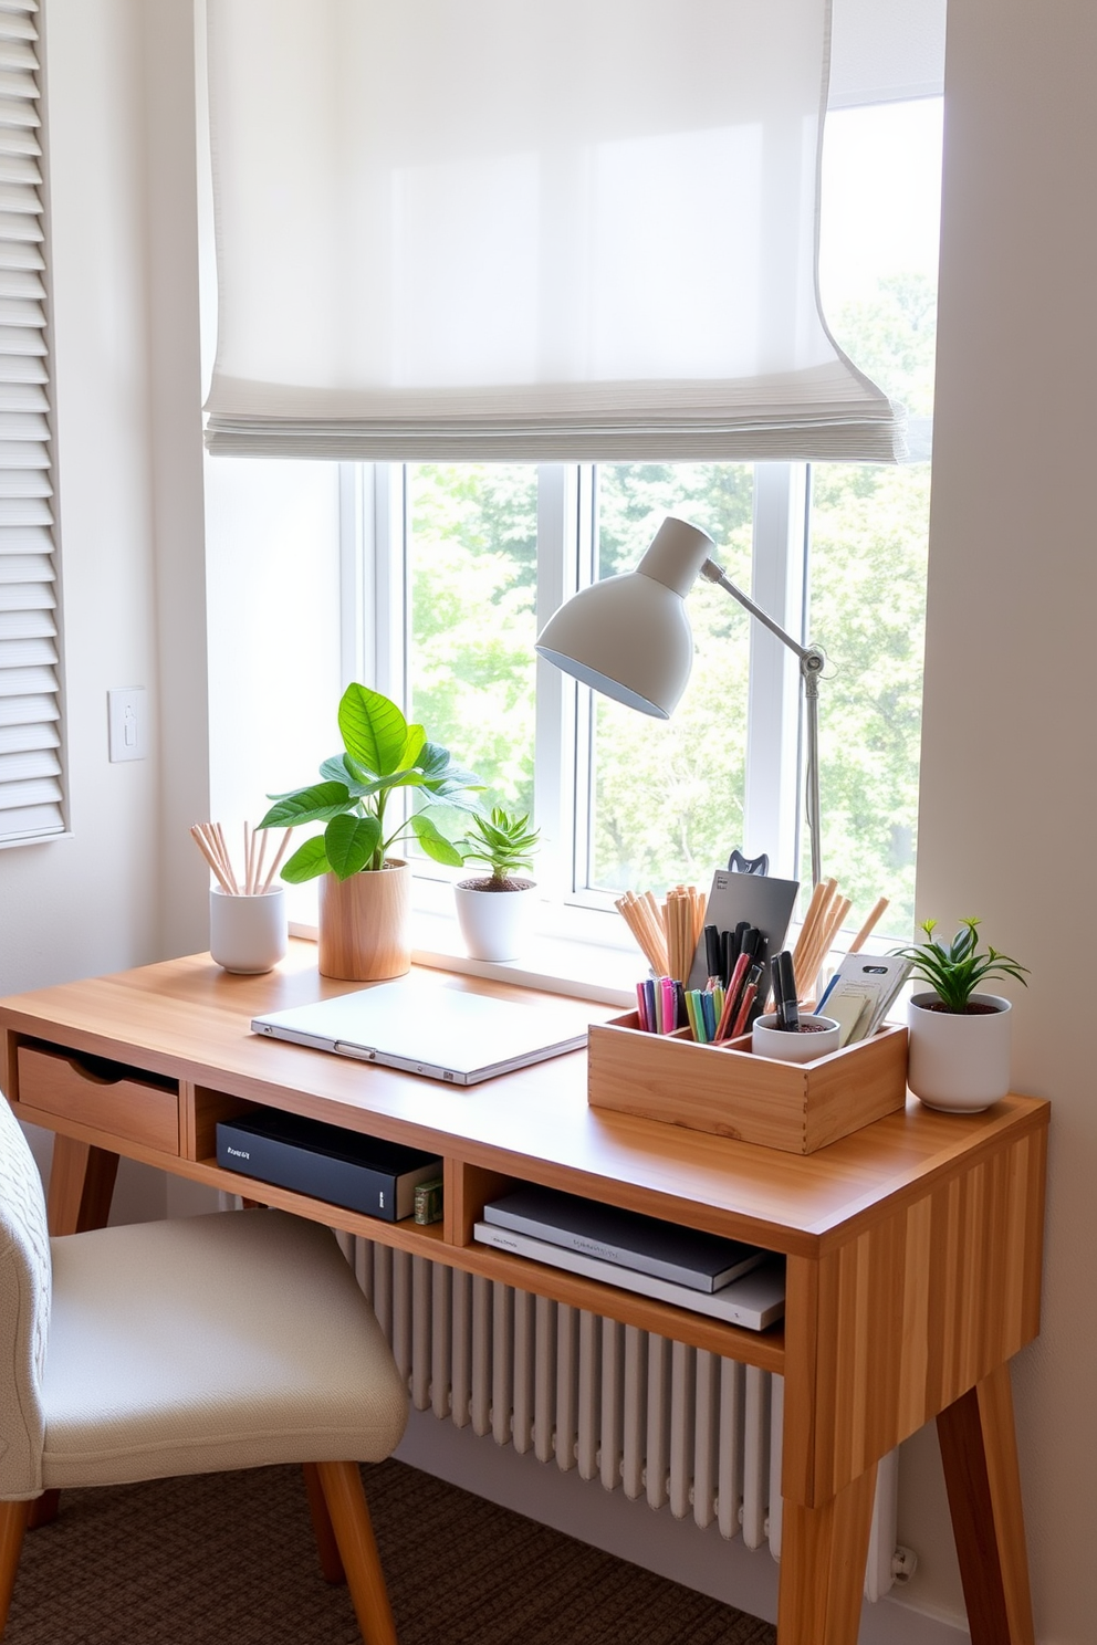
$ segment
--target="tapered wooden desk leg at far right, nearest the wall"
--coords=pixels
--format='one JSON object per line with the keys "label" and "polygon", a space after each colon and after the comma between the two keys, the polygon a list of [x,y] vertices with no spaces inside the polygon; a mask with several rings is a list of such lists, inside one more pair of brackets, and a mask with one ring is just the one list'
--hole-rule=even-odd
{"label": "tapered wooden desk leg at far right, nearest the wall", "polygon": [[972,1645],[1033,1645],[1008,1362],[937,1416]]}

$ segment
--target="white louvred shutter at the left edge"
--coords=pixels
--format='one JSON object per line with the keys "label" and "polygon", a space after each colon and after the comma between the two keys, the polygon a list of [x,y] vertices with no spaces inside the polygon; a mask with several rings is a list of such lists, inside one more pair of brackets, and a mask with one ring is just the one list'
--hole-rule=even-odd
{"label": "white louvred shutter at the left edge", "polygon": [[0,842],[64,831],[38,5],[0,0]]}

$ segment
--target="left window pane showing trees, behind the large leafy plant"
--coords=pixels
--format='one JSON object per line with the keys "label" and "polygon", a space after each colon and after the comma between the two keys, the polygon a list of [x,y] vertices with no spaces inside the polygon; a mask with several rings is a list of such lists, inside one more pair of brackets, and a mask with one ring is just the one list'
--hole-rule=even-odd
{"label": "left window pane showing trees, behind the large leafy plant", "polygon": [[533,808],[536,487],[533,464],[408,469],[410,719],[477,772],[485,806],[520,811]]}

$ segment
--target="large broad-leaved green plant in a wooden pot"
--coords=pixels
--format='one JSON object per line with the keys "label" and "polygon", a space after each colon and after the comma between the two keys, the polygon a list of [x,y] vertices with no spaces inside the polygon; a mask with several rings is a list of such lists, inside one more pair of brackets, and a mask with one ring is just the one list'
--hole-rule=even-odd
{"label": "large broad-leaved green plant in a wooden pot", "polygon": [[[470,791],[479,778],[454,765],[449,752],[428,742],[421,725],[380,691],[352,684],[339,702],[344,752],[321,765],[321,781],[275,801],[260,827],[324,822],[281,870],[299,885],[321,878],[319,969],[324,977],[373,982],[411,969],[411,870],[390,850],[414,834],[434,862],[461,867],[462,855],[426,814],[449,806],[475,811]],[[393,790],[411,790],[419,808],[388,827]]]}

